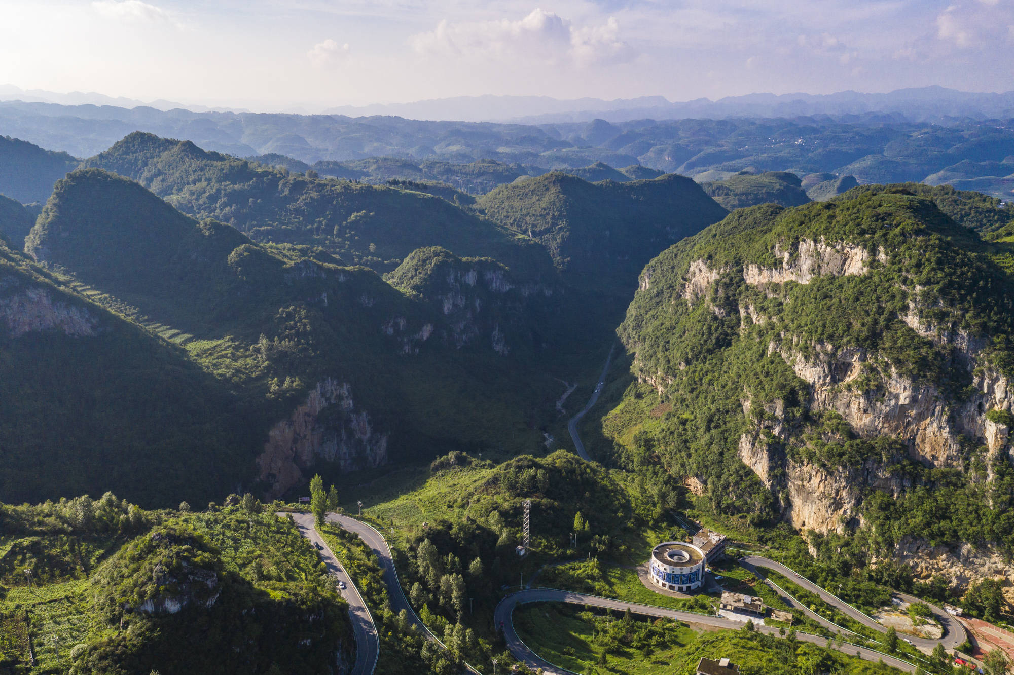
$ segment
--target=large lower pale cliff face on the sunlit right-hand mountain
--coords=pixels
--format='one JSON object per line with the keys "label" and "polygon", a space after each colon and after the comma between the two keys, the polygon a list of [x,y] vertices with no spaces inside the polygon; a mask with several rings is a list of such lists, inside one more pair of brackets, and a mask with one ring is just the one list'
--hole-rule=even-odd
{"label": "large lower pale cliff face on the sunlit right-hand mountain", "polygon": [[[955,367],[974,368],[976,358],[956,346]],[[962,440],[973,439],[988,448],[987,464],[1008,447],[1009,430],[991,422],[987,410],[1010,410],[1014,398],[1006,378],[992,369],[972,374],[971,394],[960,405],[950,404],[937,386],[915,382],[893,367],[886,373],[872,368],[864,350],[830,345],[812,346],[801,352],[772,345],[792,366],[800,379],[810,385],[811,410],[834,410],[852,430],[866,438],[887,436],[908,446],[910,457],[928,466],[962,466]],[[860,377],[866,377],[866,383]],[[871,386],[872,383],[872,386]],[[862,385],[862,386],[861,386]],[[864,386],[866,388],[864,388]],[[908,483],[887,474],[877,463],[868,461],[862,469],[824,469],[797,464],[780,449],[769,447],[765,432],[777,443],[788,443],[788,433],[769,419],[739,440],[739,457],[776,494],[787,497],[784,515],[793,526],[818,532],[840,531],[844,522],[855,517],[862,505],[864,489],[873,488],[897,497]],[[773,468],[783,476],[773,480]],[[992,479],[992,470],[987,479]],[[784,491],[784,493],[782,492]]]}

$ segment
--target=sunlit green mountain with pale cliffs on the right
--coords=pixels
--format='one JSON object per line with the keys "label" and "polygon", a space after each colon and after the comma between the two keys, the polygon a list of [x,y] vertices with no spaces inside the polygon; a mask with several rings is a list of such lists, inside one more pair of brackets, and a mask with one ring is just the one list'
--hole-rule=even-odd
{"label": "sunlit green mountain with pale cliffs on the right", "polygon": [[652,260],[601,427],[621,456],[755,525],[853,535],[861,565],[1009,551],[1014,244],[912,188],[740,210]]}

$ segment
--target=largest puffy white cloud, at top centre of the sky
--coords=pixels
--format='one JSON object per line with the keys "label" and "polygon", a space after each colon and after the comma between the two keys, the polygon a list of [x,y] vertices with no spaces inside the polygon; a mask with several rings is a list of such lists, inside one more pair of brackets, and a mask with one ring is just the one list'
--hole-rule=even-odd
{"label": "largest puffy white cloud, at top centre of the sky", "polygon": [[637,55],[620,39],[620,22],[609,18],[599,25],[574,27],[571,21],[542,9],[517,20],[451,23],[440,21],[434,30],[413,35],[419,54],[486,59],[521,59],[578,66],[630,61]]}

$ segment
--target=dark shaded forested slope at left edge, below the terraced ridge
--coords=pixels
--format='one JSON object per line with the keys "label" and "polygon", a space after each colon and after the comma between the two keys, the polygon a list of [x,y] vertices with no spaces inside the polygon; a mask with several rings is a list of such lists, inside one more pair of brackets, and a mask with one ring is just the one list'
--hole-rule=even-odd
{"label": "dark shaded forested slope at left edge, below the terraced ridge", "polygon": [[231,488],[256,443],[234,394],[182,349],[2,245],[0,351],[6,502],[199,500]]}

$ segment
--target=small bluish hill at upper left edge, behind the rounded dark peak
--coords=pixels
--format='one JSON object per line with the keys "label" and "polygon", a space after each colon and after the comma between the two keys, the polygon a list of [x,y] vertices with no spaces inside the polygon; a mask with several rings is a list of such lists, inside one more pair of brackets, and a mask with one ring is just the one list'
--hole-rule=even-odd
{"label": "small bluish hill at upper left edge, behind the rounded dark peak", "polygon": [[23,204],[45,202],[53,183],[78,163],[66,152],[44,150],[16,138],[0,136],[0,195]]}

